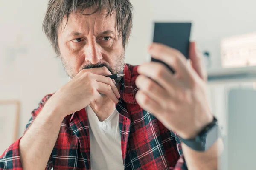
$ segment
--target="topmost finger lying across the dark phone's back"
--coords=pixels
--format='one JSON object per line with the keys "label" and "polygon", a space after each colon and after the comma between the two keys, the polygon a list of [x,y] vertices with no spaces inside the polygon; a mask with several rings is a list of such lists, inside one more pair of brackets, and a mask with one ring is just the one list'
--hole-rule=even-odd
{"label": "topmost finger lying across the dark phone's back", "polygon": [[153,43],[148,51],[155,59],[159,59],[172,67],[178,74],[188,77],[189,71],[186,66],[186,58],[180,51],[166,45]]}

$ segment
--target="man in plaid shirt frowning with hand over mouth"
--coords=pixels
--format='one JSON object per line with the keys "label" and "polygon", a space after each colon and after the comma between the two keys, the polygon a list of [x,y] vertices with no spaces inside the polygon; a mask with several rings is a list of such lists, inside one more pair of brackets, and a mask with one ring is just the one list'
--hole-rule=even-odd
{"label": "man in plaid shirt frowning with hand over mouth", "polygon": [[[71,79],[32,111],[0,169],[217,169],[218,141],[206,151],[180,142],[213,120],[195,43],[191,65],[175,49],[149,47],[175,74],[154,62],[124,64],[129,0],[49,0],[43,27]],[[105,77],[121,73],[115,81]]]}

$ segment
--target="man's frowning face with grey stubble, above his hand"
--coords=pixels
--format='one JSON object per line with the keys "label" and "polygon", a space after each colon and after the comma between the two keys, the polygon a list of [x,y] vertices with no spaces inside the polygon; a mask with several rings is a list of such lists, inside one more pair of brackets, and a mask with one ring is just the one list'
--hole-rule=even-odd
{"label": "man's frowning face with grey stubble, above his hand", "polygon": [[[83,14],[93,10],[87,8]],[[64,18],[58,28],[58,46],[65,71],[70,78],[82,69],[106,66],[112,74],[120,74],[124,67],[122,37],[116,28],[116,16],[105,11],[92,15],[79,12]]]}

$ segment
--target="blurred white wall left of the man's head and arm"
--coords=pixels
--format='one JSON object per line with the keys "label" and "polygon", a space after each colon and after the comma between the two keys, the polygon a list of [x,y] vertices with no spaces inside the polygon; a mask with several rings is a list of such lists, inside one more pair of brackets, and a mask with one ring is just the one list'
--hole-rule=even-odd
{"label": "blurred white wall left of the man's head and arm", "polygon": [[67,81],[42,32],[47,2],[0,1],[0,99],[21,101],[20,136],[38,102]]}

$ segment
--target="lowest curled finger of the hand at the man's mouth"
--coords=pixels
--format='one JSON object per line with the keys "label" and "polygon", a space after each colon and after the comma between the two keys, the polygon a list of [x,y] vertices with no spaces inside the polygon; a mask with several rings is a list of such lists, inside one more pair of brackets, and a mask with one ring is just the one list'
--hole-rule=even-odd
{"label": "lowest curled finger of the hand at the man's mouth", "polygon": [[107,95],[113,103],[118,103],[118,99],[116,98],[116,95],[114,94],[110,85],[102,82],[96,82],[95,87],[99,93]]}

